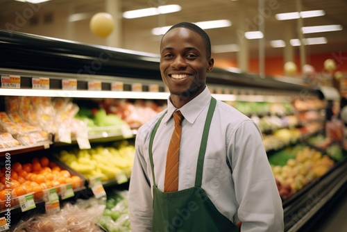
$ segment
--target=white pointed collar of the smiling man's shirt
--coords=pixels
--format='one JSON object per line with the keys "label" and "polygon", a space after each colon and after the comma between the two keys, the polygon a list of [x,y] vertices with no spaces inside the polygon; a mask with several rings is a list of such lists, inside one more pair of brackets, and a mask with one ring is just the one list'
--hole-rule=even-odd
{"label": "white pointed collar of the smiling man's shirt", "polygon": [[201,111],[208,106],[210,100],[211,93],[207,86],[201,94],[198,94],[192,101],[189,101],[179,109],[171,103],[170,99],[167,99],[167,114],[163,117],[162,122],[167,123],[174,111],[180,110],[183,117],[185,117],[190,124],[194,124],[196,118],[201,114]]}

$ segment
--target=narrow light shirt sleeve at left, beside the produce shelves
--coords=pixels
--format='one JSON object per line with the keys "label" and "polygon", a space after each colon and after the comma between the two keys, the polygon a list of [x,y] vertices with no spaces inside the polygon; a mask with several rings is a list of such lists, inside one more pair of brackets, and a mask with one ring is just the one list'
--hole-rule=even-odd
{"label": "narrow light shirt sleeve at left, beside the produce shelves", "polygon": [[138,133],[128,192],[131,231],[137,232],[152,231],[153,199],[151,183],[148,176],[146,176],[147,164],[144,159],[144,147],[142,135]]}

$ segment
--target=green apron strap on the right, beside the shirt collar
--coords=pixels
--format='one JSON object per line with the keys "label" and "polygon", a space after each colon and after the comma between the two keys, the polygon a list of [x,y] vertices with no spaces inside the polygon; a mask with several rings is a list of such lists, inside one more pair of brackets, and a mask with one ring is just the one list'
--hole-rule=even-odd
{"label": "green apron strap on the right, beside the shirt collar", "polygon": [[214,108],[216,108],[217,101],[211,97],[210,107],[208,108],[208,115],[206,117],[205,126],[203,127],[203,137],[201,138],[200,150],[198,151],[198,166],[196,167],[195,186],[201,187],[203,181],[203,160],[205,159],[205,151],[208,144],[208,132],[210,131],[212,116]]}

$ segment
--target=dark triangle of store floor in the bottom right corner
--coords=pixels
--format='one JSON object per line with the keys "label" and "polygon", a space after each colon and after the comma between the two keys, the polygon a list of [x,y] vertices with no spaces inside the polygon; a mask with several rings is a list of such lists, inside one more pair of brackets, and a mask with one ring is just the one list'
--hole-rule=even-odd
{"label": "dark triangle of store floor in the bottom right corner", "polygon": [[325,217],[320,220],[314,229],[315,232],[346,232],[347,231],[347,195],[335,202],[330,212],[325,212]]}

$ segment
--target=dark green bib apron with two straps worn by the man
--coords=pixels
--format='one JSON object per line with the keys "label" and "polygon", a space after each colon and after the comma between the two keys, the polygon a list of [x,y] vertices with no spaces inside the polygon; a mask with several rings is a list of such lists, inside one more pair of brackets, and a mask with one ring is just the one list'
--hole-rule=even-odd
{"label": "dark green bib apron with two straps worn by the man", "polygon": [[203,160],[205,157],[208,132],[216,107],[216,99],[212,97],[208,115],[203,129],[196,168],[195,186],[177,192],[162,192],[155,185],[153,166],[153,140],[162,121],[158,120],[153,129],[149,142],[149,158],[153,177],[153,232],[214,232],[237,231],[237,226],[227,217],[219,213],[205,190],[201,188],[203,179]]}

